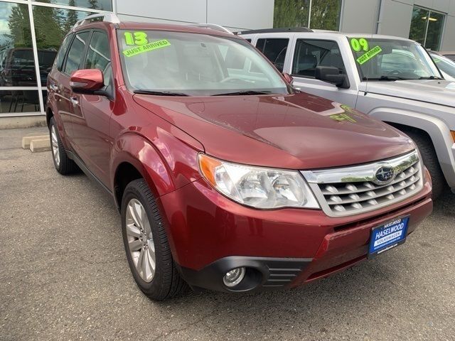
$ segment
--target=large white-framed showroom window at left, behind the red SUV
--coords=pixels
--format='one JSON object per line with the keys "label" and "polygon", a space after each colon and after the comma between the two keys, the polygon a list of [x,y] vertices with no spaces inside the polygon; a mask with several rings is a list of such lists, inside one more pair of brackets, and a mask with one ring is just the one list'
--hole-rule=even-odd
{"label": "large white-framed showroom window at left, behind the red SUV", "polygon": [[104,11],[112,11],[112,0],[0,1],[0,117],[45,112],[63,38],[80,18]]}

